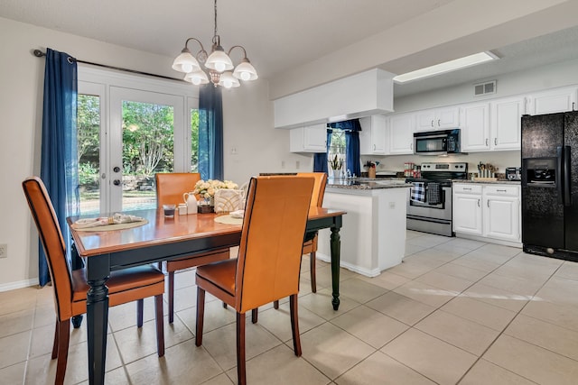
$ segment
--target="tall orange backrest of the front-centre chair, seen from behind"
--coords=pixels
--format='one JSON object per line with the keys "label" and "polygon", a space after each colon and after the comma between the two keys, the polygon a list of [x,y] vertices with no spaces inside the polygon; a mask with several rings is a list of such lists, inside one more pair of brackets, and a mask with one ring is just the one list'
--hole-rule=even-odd
{"label": "tall orange backrest of the front-centre chair, seen from behind", "polygon": [[251,179],[235,280],[239,312],[298,293],[312,189],[312,178]]}

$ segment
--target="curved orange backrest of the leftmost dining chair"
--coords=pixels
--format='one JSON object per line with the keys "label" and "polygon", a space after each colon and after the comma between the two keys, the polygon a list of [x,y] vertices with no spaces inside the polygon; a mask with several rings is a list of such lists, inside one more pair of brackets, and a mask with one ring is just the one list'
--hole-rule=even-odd
{"label": "curved orange backrest of the leftmost dining chair", "polygon": [[57,315],[59,319],[68,319],[71,316],[72,280],[69,261],[66,258],[66,244],[58,218],[40,178],[24,179],[22,187],[46,254],[46,262],[54,287]]}

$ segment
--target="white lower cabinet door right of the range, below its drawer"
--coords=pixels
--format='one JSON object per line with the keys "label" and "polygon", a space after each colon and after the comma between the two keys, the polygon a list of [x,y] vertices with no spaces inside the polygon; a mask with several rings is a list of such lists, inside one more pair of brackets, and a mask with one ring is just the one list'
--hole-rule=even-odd
{"label": "white lower cabinet door right of the range, below its drawer", "polygon": [[453,194],[453,231],[464,234],[482,234],[481,196]]}

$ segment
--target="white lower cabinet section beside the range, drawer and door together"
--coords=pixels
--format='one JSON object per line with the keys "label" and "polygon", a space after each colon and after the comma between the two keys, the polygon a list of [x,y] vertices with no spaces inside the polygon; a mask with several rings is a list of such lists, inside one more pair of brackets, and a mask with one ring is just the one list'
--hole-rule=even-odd
{"label": "white lower cabinet section beside the range, drawer and door together", "polygon": [[453,231],[482,235],[481,185],[454,183],[452,188]]}

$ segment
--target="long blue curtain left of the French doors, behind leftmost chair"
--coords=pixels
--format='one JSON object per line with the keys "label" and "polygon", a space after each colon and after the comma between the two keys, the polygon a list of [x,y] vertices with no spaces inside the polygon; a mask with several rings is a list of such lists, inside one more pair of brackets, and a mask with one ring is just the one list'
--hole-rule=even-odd
{"label": "long blue curtain left of the French doors, behind leftmost chair", "polygon": [[[41,179],[51,197],[70,259],[70,234],[66,217],[79,213],[77,145],[77,64],[57,50],[46,50],[42,110]],[[50,281],[46,258],[39,242],[40,286]]]}

